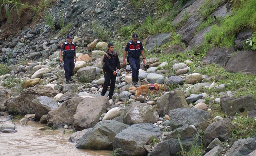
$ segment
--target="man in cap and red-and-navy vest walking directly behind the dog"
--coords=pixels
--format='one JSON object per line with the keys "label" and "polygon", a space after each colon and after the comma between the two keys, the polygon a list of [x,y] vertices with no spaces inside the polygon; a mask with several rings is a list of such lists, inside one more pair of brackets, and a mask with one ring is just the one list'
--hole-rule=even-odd
{"label": "man in cap and red-and-navy vest walking directly behind the dog", "polygon": [[125,66],[125,58],[127,56],[127,62],[130,63],[132,68],[132,84],[136,85],[139,80],[140,69],[140,54],[143,56],[143,63],[146,63],[144,48],[142,43],[138,40],[138,35],[135,33],[132,35],[132,40],[127,42],[124,49],[123,65]]}

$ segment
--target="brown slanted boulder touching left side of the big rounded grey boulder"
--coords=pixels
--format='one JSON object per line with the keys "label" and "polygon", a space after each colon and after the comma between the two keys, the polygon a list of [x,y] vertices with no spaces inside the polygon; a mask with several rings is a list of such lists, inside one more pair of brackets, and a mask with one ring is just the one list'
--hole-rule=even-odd
{"label": "brown slanted boulder touching left side of the big rounded grey boulder", "polygon": [[73,97],[63,102],[61,106],[49,111],[47,114],[48,126],[63,127],[64,125],[72,125],[77,106],[82,101],[82,97]]}

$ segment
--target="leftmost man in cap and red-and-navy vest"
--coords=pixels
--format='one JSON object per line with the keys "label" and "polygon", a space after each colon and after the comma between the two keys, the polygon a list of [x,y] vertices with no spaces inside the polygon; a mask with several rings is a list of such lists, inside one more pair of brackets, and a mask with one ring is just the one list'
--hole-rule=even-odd
{"label": "leftmost man in cap and red-and-navy vest", "polygon": [[[64,61],[64,70],[66,83],[73,81],[71,75],[75,68],[75,62],[77,62],[77,55],[75,54],[75,43],[72,42],[72,36],[67,35],[67,41],[64,42],[61,46],[61,51],[59,52],[59,61],[62,62],[62,52],[63,52],[63,61]],[[74,61],[75,58],[75,61]]]}

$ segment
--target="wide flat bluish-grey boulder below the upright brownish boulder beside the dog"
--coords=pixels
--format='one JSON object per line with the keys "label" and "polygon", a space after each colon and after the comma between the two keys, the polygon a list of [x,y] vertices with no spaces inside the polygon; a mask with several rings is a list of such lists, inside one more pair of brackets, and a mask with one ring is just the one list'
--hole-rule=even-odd
{"label": "wide flat bluish-grey boulder below the upright brownish boulder beside the dog", "polygon": [[198,126],[210,118],[210,113],[197,108],[177,108],[170,110],[168,115],[174,127],[181,127],[185,123]]}

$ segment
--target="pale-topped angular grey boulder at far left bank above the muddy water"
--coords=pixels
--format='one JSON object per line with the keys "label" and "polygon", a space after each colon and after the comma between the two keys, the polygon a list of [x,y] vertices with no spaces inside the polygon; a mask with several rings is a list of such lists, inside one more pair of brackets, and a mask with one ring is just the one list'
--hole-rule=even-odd
{"label": "pale-topped angular grey boulder at far left bank above the muddy water", "polygon": [[58,107],[58,103],[53,97],[40,96],[32,100],[32,108],[35,111],[35,119],[40,120],[40,118],[47,114],[50,110]]}

